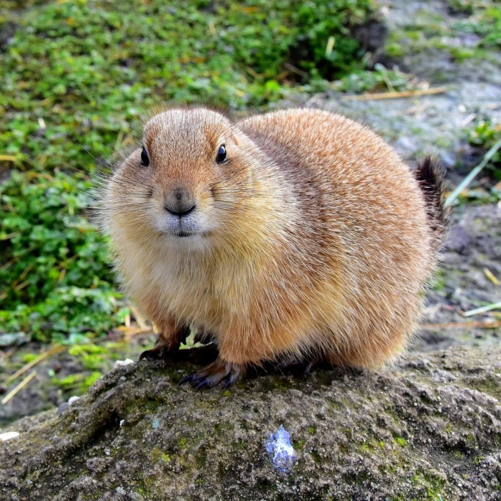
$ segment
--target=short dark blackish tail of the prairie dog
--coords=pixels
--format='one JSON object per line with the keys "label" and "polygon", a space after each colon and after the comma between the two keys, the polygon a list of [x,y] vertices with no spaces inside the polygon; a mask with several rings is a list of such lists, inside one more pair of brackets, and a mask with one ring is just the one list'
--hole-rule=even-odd
{"label": "short dark blackish tail of the prairie dog", "polygon": [[416,179],[426,201],[426,212],[436,246],[447,228],[447,210],[445,208],[445,181],[443,170],[438,161],[426,156],[417,166]]}

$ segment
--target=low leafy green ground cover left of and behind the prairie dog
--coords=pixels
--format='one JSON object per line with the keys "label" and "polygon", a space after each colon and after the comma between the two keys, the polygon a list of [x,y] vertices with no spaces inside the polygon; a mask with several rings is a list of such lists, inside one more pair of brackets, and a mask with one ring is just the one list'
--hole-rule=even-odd
{"label": "low leafy green ground cover left of and behind the prairie dog", "polygon": [[372,0],[0,0],[0,331],[77,340],[123,321],[84,209],[143,110],[265,106],[361,72],[351,29],[373,14]]}

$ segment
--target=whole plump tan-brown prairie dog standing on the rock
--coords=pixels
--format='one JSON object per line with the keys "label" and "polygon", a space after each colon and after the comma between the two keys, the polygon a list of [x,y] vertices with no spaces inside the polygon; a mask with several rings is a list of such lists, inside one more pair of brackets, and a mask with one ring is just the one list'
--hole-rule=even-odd
{"label": "whole plump tan-brown prairie dog standing on the rock", "polygon": [[219,352],[185,378],[197,387],[270,360],[391,359],[435,263],[441,188],[431,160],[414,175],[367,127],[327,111],[153,116],[103,198],[124,288],[159,333],[147,358],[192,326]]}

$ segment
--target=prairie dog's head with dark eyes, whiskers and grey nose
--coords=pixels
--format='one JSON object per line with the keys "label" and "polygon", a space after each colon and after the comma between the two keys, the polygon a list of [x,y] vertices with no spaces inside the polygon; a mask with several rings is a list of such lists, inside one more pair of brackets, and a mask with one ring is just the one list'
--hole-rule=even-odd
{"label": "prairie dog's head with dark eyes, whiskers and grey nose", "polygon": [[232,225],[259,150],[224,115],[171,109],[144,126],[142,145],[116,169],[104,207],[133,237],[203,243]]}

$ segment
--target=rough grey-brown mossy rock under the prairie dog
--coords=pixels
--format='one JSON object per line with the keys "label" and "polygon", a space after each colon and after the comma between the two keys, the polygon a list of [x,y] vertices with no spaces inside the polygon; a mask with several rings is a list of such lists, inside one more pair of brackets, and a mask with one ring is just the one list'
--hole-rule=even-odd
{"label": "rough grey-brown mossy rock under the prairie dog", "polygon": [[[270,374],[228,390],[136,363],[0,444],[0,499],[501,499],[501,350],[407,355],[378,372]],[[276,470],[280,425],[297,462]]]}

